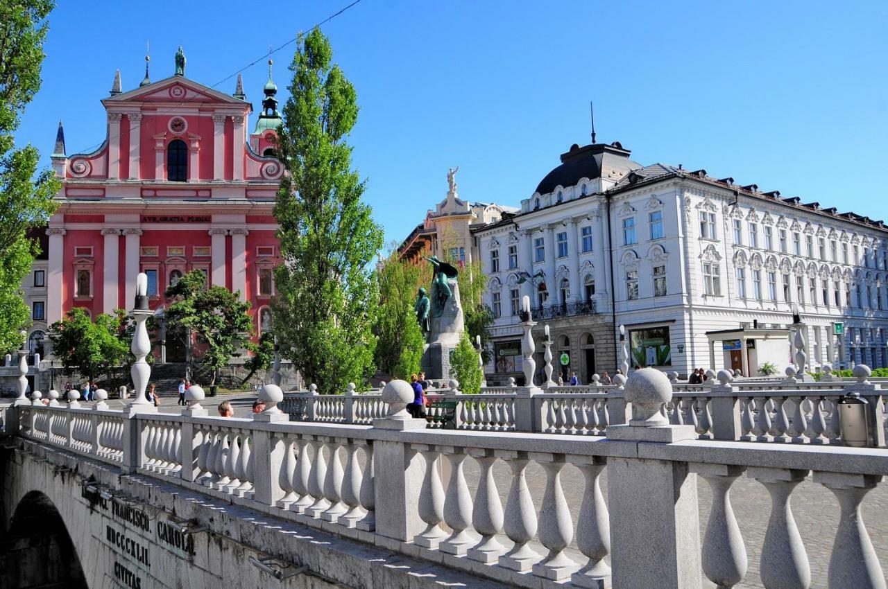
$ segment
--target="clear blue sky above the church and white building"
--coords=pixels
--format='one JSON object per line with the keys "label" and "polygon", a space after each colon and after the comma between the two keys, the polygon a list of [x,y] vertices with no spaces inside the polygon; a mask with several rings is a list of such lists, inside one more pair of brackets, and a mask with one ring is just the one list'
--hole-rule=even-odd
{"label": "clear blue sky above the church and white building", "polygon": [[[105,134],[100,98],[173,72],[213,85],[258,59],[244,86],[259,107],[268,46],[349,4],[62,2],[51,15],[44,85],[20,142],[48,165]],[[87,8],[88,6],[88,8]],[[401,240],[447,191],[518,205],[573,143],[618,140],[642,164],[705,168],[888,221],[888,3],[362,0],[323,27],[354,83],[354,165],[387,240]],[[285,66],[275,56],[286,98]],[[234,91],[234,78],[218,90]],[[250,128],[256,114],[250,119]]]}

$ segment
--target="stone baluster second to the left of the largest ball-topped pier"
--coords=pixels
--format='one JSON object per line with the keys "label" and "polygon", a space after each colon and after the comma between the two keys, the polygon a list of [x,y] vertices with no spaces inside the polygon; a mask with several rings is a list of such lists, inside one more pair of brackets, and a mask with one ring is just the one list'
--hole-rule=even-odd
{"label": "stone baluster second to the left of the largest ball-topped pier", "polygon": [[542,561],[537,562],[533,572],[537,577],[552,581],[563,581],[577,568],[576,562],[565,553],[565,548],[574,538],[574,523],[567,508],[567,499],[561,489],[561,469],[564,467],[563,454],[531,452],[534,459],[546,471],[546,491],[543,493],[543,508],[540,511],[540,543],[549,550]]}

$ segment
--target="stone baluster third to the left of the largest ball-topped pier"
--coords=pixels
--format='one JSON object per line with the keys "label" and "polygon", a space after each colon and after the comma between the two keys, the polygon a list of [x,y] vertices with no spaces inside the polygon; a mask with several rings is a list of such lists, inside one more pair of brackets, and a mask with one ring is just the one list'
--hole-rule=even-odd
{"label": "stone baluster third to the left of the largest ball-topped pier", "polygon": [[506,569],[525,572],[540,560],[541,555],[527,545],[536,535],[536,511],[527,488],[527,452],[497,450],[496,456],[511,467],[511,486],[503,527],[514,543],[511,550],[499,557],[499,565]]}

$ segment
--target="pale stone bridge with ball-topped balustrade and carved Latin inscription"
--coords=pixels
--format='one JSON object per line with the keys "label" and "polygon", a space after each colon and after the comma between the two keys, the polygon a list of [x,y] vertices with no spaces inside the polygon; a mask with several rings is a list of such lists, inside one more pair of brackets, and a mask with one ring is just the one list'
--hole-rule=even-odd
{"label": "pale stone bridge with ball-topped balustrade and carved Latin inscription", "polygon": [[[400,381],[365,423],[289,421],[274,386],[251,419],[208,416],[198,388],[181,414],[20,400],[0,586],[884,589],[888,451],[789,420],[797,444],[708,439],[670,424],[654,372],[619,391],[625,423],[582,435],[425,428]],[[732,390],[711,399],[739,435]]]}

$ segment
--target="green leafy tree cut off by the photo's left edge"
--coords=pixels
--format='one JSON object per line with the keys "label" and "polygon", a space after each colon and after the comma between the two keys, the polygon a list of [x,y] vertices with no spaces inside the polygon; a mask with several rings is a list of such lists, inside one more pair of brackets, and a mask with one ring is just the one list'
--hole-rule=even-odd
{"label": "green leafy tree cut off by the photo's left edge", "polygon": [[0,349],[20,346],[19,331],[29,310],[21,294],[25,277],[38,252],[28,229],[46,222],[55,210],[52,195],[59,181],[51,170],[37,172],[36,147],[15,148],[25,106],[40,90],[44,61],[46,17],[51,0],[12,0],[0,3]]}

